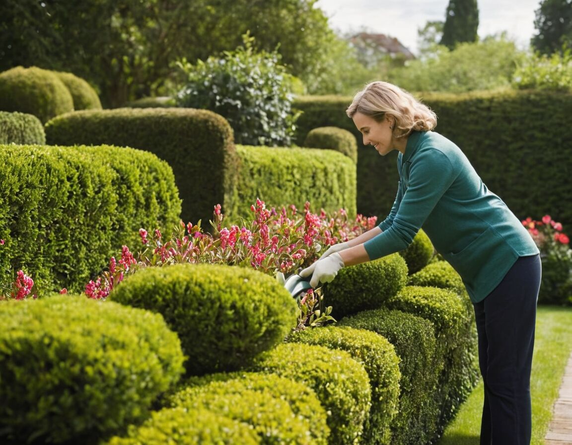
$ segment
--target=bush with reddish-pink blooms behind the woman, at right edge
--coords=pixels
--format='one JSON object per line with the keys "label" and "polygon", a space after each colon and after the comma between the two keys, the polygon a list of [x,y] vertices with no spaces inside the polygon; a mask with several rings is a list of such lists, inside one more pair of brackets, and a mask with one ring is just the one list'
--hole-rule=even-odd
{"label": "bush with reddish-pink blooms behind the woman, at right edge", "polygon": [[548,214],[540,221],[526,218],[522,224],[533,237],[542,260],[539,303],[572,303],[572,250],[562,224]]}

